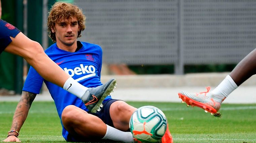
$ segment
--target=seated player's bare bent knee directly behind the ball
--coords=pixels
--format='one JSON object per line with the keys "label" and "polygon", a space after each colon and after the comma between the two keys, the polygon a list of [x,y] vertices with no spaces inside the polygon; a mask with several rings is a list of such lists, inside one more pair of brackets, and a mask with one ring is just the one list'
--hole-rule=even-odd
{"label": "seated player's bare bent knee directly behind the ball", "polygon": [[136,108],[125,103],[124,101],[116,101],[110,106],[110,117],[116,129],[127,131],[129,129],[129,121]]}

